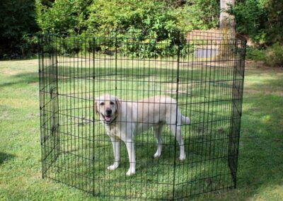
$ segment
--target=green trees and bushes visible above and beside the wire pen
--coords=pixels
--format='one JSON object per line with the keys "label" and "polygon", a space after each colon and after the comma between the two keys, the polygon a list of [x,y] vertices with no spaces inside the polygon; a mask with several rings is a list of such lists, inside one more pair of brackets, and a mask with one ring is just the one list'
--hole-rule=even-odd
{"label": "green trees and bushes visible above and beside the wire pen", "polygon": [[[219,27],[219,0],[3,0],[0,4],[0,58],[31,57],[35,33],[136,31],[159,39],[180,31]],[[229,10],[236,30],[253,46],[248,57],[281,66],[283,1],[236,0]],[[141,38],[142,39],[142,38]],[[270,62],[275,59],[276,62]]]}

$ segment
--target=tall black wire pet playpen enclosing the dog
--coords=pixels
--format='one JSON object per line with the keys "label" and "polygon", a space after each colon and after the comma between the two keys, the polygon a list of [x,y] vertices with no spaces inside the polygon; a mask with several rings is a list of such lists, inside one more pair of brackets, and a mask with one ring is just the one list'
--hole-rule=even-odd
{"label": "tall black wire pet playpen enclosing the dog", "polygon": [[[219,33],[161,40],[105,32],[40,35],[39,43],[43,178],[120,199],[173,200],[236,187],[246,40]],[[170,96],[190,124],[167,122],[158,158],[154,129],[142,130],[133,138],[137,172],[126,176],[124,143],[119,145],[120,166],[109,171],[114,150],[108,125],[95,111],[103,94],[132,105]],[[161,102],[154,101],[154,107]],[[183,161],[171,124],[182,132]]]}

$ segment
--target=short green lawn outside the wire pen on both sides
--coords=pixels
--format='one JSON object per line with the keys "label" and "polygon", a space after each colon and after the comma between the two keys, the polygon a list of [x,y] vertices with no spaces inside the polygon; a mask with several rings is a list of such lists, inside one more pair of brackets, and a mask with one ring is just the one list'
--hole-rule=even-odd
{"label": "short green lawn outside the wire pen on both sides", "polygon": [[[93,200],[41,178],[37,71],[37,59],[0,62],[0,200]],[[248,62],[240,141],[238,188],[195,200],[283,199],[283,69]]]}

